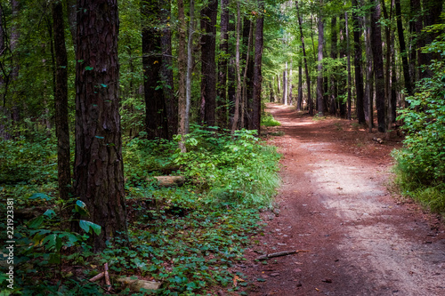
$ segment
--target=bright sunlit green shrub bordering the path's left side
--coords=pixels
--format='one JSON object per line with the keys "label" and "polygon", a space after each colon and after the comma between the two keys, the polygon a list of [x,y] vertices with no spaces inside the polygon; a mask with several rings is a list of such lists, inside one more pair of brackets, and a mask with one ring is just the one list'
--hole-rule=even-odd
{"label": "bright sunlit green shrub bordering the path's left side", "polygon": [[193,126],[186,139],[187,153],[174,155],[174,164],[209,202],[237,201],[246,206],[271,207],[279,186],[279,154],[260,144],[255,131],[217,134]]}

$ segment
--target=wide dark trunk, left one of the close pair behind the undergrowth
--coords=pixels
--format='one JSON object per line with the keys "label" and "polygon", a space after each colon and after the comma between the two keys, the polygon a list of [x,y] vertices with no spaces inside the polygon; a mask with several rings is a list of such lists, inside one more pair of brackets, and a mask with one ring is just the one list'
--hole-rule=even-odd
{"label": "wide dark trunk, left one of the close pair behind the undergrowth", "polygon": [[158,18],[160,7],[158,0],[142,1],[142,68],[145,95],[145,129],[147,139],[168,138],[166,121],[166,99],[161,76],[162,47]]}

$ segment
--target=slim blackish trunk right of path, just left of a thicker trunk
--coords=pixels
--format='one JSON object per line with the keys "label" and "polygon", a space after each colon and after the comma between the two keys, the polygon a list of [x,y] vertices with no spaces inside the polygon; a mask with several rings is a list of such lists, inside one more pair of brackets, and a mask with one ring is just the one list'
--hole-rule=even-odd
{"label": "slim blackish trunk right of path, just left of a thicker trunk", "polygon": [[354,35],[354,67],[355,67],[355,89],[357,93],[357,103],[356,112],[357,118],[359,119],[359,124],[365,124],[365,112],[363,106],[363,76],[361,75],[361,43],[360,43],[360,18],[356,10],[359,9],[357,0],[352,0],[352,6],[354,10],[352,11],[352,28]]}

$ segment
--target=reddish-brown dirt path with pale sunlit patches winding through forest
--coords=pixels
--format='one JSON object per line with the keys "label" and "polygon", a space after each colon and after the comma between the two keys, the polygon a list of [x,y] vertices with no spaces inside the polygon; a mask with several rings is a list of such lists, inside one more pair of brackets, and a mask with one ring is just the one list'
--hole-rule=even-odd
{"label": "reddish-brown dirt path with pale sunlit patches winding through forest", "polygon": [[[282,136],[279,214],[264,212],[244,274],[249,295],[445,295],[440,217],[387,190],[392,148],[347,121],[271,104]],[[303,250],[267,262],[262,253]],[[307,252],[305,252],[307,251]],[[241,276],[243,277],[243,276]]]}

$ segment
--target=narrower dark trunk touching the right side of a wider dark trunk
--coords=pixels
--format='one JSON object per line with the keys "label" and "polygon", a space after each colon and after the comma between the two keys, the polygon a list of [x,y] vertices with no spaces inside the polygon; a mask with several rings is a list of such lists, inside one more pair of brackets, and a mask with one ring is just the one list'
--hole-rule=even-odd
{"label": "narrower dark trunk touching the right side of a wider dark trunk", "polygon": [[166,100],[166,116],[168,123],[168,139],[173,139],[173,135],[178,133],[178,101],[174,96],[174,75],[173,75],[173,54],[172,54],[172,30],[170,28],[171,0],[163,0],[161,3],[161,18],[163,29],[161,36],[162,67],[161,77],[163,84],[164,98]]}

